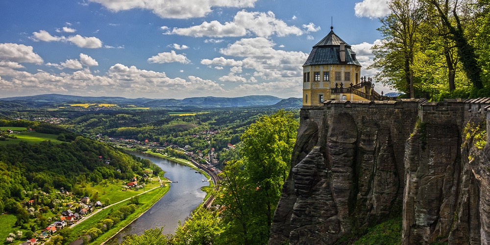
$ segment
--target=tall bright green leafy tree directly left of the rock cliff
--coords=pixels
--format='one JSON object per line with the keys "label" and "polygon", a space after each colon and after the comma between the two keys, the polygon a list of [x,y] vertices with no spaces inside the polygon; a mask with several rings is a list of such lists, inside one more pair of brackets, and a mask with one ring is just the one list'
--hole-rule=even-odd
{"label": "tall bright green leafy tree directly left of the rock cliff", "polygon": [[242,135],[242,159],[229,163],[221,175],[223,216],[230,224],[227,234],[236,234],[242,244],[265,244],[269,239],[272,216],[291,168],[297,128],[292,112],[263,116]]}

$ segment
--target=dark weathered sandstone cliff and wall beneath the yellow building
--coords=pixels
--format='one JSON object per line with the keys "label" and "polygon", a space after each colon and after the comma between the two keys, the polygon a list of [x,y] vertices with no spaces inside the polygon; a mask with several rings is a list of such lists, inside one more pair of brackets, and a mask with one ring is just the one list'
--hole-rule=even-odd
{"label": "dark weathered sandstone cliff and wall beneath the yellow building", "polygon": [[400,215],[403,244],[490,244],[489,103],[302,108],[269,244],[334,244]]}

